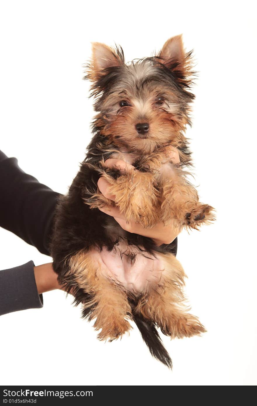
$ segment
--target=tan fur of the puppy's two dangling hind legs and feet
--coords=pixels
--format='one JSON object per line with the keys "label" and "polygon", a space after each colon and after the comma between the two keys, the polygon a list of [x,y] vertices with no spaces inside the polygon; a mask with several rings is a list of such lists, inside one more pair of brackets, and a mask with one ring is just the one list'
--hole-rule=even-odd
{"label": "tan fur of the puppy's two dangling hind legs and feet", "polygon": [[[136,312],[153,320],[162,332],[173,338],[191,337],[205,332],[198,318],[189,314],[183,293],[184,270],[172,254],[158,254],[164,263],[158,283],[151,283],[139,299]],[[104,276],[104,263],[95,260],[91,251],[80,251],[69,260],[70,272],[78,286],[92,300],[84,306],[94,306],[90,320],[95,319],[98,339],[117,339],[130,330],[128,319],[132,318],[127,296],[131,292]],[[133,292],[133,295],[135,292]]]}

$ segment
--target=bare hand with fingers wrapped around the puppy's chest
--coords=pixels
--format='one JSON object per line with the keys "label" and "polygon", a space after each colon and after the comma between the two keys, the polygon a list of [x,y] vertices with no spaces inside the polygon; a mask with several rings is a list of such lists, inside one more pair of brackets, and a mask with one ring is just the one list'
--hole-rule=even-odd
{"label": "bare hand with fingers wrapped around the puppy's chest", "polygon": [[[171,158],[174,164],[179,163],[179,153],[177,149],[172,148],[169,157]],[[106,160],[105,166],[108,167],[115,166],[120,168],[122,171],[132,169],[136,171],[134,166],[130,165],[129,163],[123,160],[113,158]],[[100,177],[97,185],[99,190],[106,198],[115,201],[115,196],[113,194],[110,194],[108,190],[110,184],[103,177]],[[109,216],[112,216],[125,231],[129,231],[130,233],[135,233],[139,235],[144,235],[145,237],[150,237],[158,246],[162,244],[170,244],[175,240],[175,238],[181,231],[181,229],[175,227],[173,220],[170,220],[165,224],[163,222],[159,222],[155,227],[147,229],[144,228],[142,225],[135,223],[134,221],[127,222],[124,215],[120,212],[119,207],[104,206],[99,207],[99,210],[108,214]]]}

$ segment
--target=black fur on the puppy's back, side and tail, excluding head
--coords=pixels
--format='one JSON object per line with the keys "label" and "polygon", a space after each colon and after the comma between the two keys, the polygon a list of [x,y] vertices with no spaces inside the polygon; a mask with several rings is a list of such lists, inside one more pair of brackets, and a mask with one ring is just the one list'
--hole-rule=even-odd
{"label": "black fur on the puppy's back, side and tail, excluding head", "polygon": [[[69,274],[67,259],[80,250],[88,251],[90,247],[97,246],[102,249],[104,246],[111,251],[117,244],[117,240],[106,232],[106,226],[115,220],[99,211],[90,209],[84,199],[90,199],[92,194],[97,192],[97,181],[100,177],[96,168],[101,168],[99,160],[108,158],[107,146],[104,138],[98,133],[91,141],[88,153],[80,166],[80,171],[73,180],[67,196],[60,197],[56,210],[56,220],[51,243],[51,252],[54,259],[53,267],[58,274],[58,281],[65,286],[66,292],[74,296],[74,304],[90,302],[92,297],[78,288],[76,281]],[[177,253],[177,238],[171,244],[156,246],[151,238],[143,237],[125,232],[128,245],[143,247],[148,253]],[[139,247],[138,247],[139,248]],[[140,249],[140,248],[139,248]],[[133,311],[133,309],[132,309]],[[93,307],[84,309],[82,317],[91,320]],[[151,354],[168,367],[172,366],[155,325],[138,314],[133,314],[134,321],[138,326],[143,340],[147,344]]]}

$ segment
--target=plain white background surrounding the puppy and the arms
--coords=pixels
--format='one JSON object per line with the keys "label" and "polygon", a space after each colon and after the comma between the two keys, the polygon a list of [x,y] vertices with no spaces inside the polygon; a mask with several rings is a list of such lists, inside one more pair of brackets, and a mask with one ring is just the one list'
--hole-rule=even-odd
{"label": "plain white background surrounding the puppy and the arms", "polygon": [[[181,4],[181,5],[178,5]],[[192,312],[208,332],[164,343],[173,372],[139,332],[103,343],[63,292],[43,309],[0,318],[0,384],[255,385],[256,36],[254,2],[2,1],[0,148],[24,171],[65,193],[91,138],[82,81],[91,41],[150,56],[184,34],[199,71],[187,136],[195,184],[217,210],[214,225],[179,235],[177,258]],[[254,89],[255,88],[255,89]],[[4,199],[4,196],[0,197]],[[0,269],[50,258],[0,230]]]}

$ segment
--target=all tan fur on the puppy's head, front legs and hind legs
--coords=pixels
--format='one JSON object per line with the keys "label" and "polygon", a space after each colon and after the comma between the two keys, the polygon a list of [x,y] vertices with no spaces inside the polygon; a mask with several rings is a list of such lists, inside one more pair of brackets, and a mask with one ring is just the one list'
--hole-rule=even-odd
{"label": "all tan fur on the puppy's head, front legs and hind legs", "polygon": [[[94,124],[101,128],[101,137],[105,140],[104,146],[99,140],[97,147],[100,150],[106,150],[106,145],[110,149],[115,147],[110,158],[135,163],[138,170],[120,171],[114,179],[104,162],[100,163],[100,168],[96,165],[95,171],[109,182],[108,192],[115,196],[115,201],[105,198],[97,190],[93,196],[88,193],[90,197],[85,198],[85,203],[92,208],[116,205],[127,221],[143,227],[154,227],[158,222],[168,223],[170,220],[179,230],[209,224],[215,219],[214,209],[199,202],[197,190],[188,181],[189,173],[183,169],[191,163],[188,140],[184,136],[186,125],[190,124],[190,103],[194,97],[189,93],[194,74],[191,53],[185,52],[181,35],[168,39],[157,56],[140,63],[127,65],[119,59],[122,56],[118,49],[117,52],[104,44],[93,44],[92,61],[87,71],[87,77],[93,82],[92,94],[97,100],[101,89],[98,89],[99,84],[94,86],[94,82],[104,75],[104,69],[120,67],[119,80],[112,84],[111,91],[104,93],[101,103],[95,104],[95,109],[101,109],[103,113],[97,114]],[[154,85],[146,81],[138,86],[138,81],[154,75],[156,63],[161,69],[164,65],[173,70],[177,86],[184,89],[183,94],[176,91],[175,86],[162,86],[158,80]],[[124,101],[125,106],[121,103]],[[138,134],[137,123],[149,124],[144,137]],[[180,164],[173,164],[170,148],[178,149]],[[119,236],[120,240],[126,241],[126,235],[119,235],[120,230],[112,231],[113,238]],[[133,250],[131,246],[129,249]],[[119,283],[121,279],[112,278],[104,268],[105,263],[95,260],[93,250],[71,258],[71,275],[79,287],[92,296],[91,302],[85,306],[94,306],[90,317],[96,319],[95,328],[102,329],[99,339],[116,339],[130,330],[128,319],[132,318],[132,310],[127,298],[133,295],[139,300],[133,311],[153,320],[171,338],[200,335],[205,331],[185,305],[183,287],[186,275],[181,264],[172,254],[156,253],[156,257],[163,265],[159,272],[157,262],[158,278],[148,278],[143,288],[136,292]]]}

